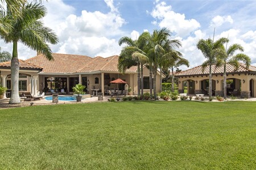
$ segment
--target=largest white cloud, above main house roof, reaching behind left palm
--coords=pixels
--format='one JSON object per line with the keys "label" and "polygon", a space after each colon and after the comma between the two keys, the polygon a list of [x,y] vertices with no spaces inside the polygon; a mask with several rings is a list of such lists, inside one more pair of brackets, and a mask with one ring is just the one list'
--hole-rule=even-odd
{"label": "largest white cloud, above main house roof, reaching behind left palm", "polygon": [[[59,37],[59,43],[51,45],[52,51],[90,57],[119,54],[121,47],[114,37],[123,35],[121,27],[126,22],[113,0],[105,0],[105,3],[110,8],[109,12],[83,10],[81,15],[77,15],[75,8],[63,0],[44,2],[48,14],[43,21]],[[0,41],[0,46],[9,52],[12,50],[12,45],[3,41]],[[36,52],[19,43],[18,54],[20,59],[27,59],[35,56]]]}

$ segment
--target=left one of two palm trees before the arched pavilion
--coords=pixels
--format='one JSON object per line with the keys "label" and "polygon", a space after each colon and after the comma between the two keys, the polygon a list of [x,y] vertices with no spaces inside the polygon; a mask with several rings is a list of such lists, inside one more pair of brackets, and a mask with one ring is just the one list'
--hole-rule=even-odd
{"label": "left one of two palm trees before the arched pavilion", "polygon": [[205,61],[203,66],[203,71],[205,67],[209,65],[209,97],[212,97],[212,65],[216,63],[216,58],[218,56],[218,50],[221,48],[224,48],[224,43],[228,42],[228,39],[221,38],[214,42],[212,39],[207,40],[199,40],[196,44],[197,48],[201,50],[204,57],[207,58],[207,61]]}

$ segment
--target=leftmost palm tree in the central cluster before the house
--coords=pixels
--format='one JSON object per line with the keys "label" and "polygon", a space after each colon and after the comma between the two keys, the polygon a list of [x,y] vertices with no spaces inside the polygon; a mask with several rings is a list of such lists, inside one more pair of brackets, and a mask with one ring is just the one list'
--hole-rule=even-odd
{"label": "leftmost palm tree in the central cluster before the house", "polygon": [[[133,56],[134,52],[143,51],[145,46],[147,45],[147,37],[150,34],[148,32],[143,32],[139,37],[138,40],[132,40],[130,37],[122,37],[119,40],[119,45],[127,44],[119,55],[118,59],[118,69],[122,73],[125,73],[126,69],[129,69],[131,66],[137,66],[137,73],[138,73],[138,95],[141,94],[141,89],[143,90],[143,61]],[[143,91],[142,91],[143,94]]]}

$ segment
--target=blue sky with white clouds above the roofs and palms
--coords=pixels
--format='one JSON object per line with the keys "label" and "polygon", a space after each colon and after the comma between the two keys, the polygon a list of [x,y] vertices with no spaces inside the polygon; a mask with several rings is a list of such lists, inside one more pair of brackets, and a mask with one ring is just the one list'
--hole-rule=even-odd
{"label": "blue sky with white clouds above the roofs and palms", "polygon": [[[216,39],[229,37],[229,44],[241,44],[256,66],[255,1],[48,0],[44,5],[48,10],[44,23],[60,39],[51,46],[55,53],[118,55],[122,36],[136,39],[143,31],[167,27],[173,32],[171,39],[182,42],[179,50],[194,67],[204,61],[196,42],[212,37],[216,28]],[[11,52],[11,44],[1,41],[0,46]],[[19,58],[35,54],[19,44]]]}

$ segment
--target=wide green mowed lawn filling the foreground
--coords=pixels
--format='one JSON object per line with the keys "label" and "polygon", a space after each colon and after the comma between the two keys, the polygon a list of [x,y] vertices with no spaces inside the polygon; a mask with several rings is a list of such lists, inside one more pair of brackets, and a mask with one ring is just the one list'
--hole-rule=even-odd
{"label": "wide green mowed lawn filling the foreground", "polygon": [[256,169],[256,103],[2,109],[0,169]]}

